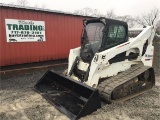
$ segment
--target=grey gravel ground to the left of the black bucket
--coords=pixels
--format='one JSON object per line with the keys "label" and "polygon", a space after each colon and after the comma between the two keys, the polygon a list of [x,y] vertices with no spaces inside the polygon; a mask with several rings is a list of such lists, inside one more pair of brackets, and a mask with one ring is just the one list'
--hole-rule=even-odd
{"label": "grey gravel ground to the left of the black bucket", "polygon": [[[61,72],[64,68],[55,68]],[[46,71],[1,79],[0,120],[67,120],[33,90]]]}

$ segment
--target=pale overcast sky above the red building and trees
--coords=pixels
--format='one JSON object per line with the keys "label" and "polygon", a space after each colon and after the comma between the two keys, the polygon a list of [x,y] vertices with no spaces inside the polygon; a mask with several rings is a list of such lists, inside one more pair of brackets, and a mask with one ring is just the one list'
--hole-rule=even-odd
{"label": "pale overcast sky above the red building and trees", "polygon": [[[154,7],[160,9],[160,0],[27,0],[29,6],[45,5],[46,9],[74,12],[85,7],[98,9],[102,14],[114,9],[119,15],[137,16]],[[0,3],[17,3],[17,0],[0,0]]]}

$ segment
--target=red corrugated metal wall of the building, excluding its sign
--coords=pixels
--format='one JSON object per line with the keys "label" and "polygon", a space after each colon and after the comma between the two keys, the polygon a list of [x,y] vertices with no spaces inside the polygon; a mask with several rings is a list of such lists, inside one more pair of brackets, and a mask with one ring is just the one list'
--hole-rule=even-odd
{"label": "red corrugated metal wall of the building, excluding its sign", "polygon": [[[46,42],[7,43],[5,19],[45,21]],[[80,45],[81,16],[0,6],[0,65],[67,58],[71,48]]]}

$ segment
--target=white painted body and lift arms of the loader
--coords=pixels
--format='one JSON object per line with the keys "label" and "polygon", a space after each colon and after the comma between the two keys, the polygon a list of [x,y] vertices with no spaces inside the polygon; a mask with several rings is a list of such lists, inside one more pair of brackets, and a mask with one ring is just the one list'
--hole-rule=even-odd
{"label": "white painted body and lift arms of the loader", "polygon": [[[107,49],[105,51],[96,53],[91,61],[88,80],[84,82],[88,86],[96,88],[101,78],[107,78],[116,76],[119,72],[129,69],[132,65],[142,62],[144,66],[152,66],[154,47],[152,45],[153,37],[155,35],[155,29],[153,26],[147,26],[146,28],[133,28],[129,29],[129,32],[139,32],[136,37],[129,37],[128,41]],[[142,54],[144,44],[148,43],[146,51]],[[74,60],[77,56],[80,56],[80,47],[71,49],[69,54],[68,74],[71,70]],[[132,53],[138,53],[139,56],[134,60],[124,60],[113,64],[109,63],[109,60],[115,57],[117,54],[126,51],[126,55]],[[86,71],[89,67],[88,63],[80,60],[77,64],[77,68]],[[70,77],[79,81],[79,79],[72,74]]]}

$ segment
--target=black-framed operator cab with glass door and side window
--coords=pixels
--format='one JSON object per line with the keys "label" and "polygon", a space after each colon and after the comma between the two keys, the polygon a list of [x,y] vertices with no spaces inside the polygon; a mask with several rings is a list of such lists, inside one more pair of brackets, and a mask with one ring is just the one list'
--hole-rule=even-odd
{"label": "black-framed operator cab with glass door and side window", "polygon": [[128,41],[126,22],[107,18],[84,20],[81,38],[81,58],[90,62],[95,53]]}

